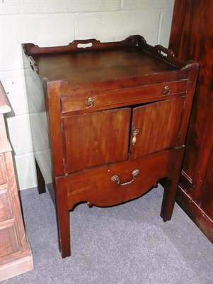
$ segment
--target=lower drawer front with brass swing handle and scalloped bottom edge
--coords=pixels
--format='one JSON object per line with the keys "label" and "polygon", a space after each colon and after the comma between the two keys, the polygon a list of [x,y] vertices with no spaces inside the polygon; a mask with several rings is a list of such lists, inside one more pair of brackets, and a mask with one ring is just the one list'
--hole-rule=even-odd
{"label": "lower drawer front with brass swing handle and scalloped bottom edge", "polygon": [[[173,150],[175,151],[175,150]],[[163,151],[56,178],[57,190],[67,188],[68,208],[79,202],[105,207],[133,200],[166,177],[173,151]],[[134,177],[132,173],[137,170]]]}

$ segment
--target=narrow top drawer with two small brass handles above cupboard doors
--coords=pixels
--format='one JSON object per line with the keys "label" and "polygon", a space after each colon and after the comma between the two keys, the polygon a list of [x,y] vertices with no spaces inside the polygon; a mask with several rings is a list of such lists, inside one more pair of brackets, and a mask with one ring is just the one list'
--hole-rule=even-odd
{"label": "narrow top drawer with two small brass handles above cupboard doors", "polygon": [[113,108],[126,104],[139,104],[156,99],[168,99],[174,94],[186,92],[188,80],[151,84],[109,92],[81,94],[61,98],[62,113],[70,111],[91,111],[91,109]]}

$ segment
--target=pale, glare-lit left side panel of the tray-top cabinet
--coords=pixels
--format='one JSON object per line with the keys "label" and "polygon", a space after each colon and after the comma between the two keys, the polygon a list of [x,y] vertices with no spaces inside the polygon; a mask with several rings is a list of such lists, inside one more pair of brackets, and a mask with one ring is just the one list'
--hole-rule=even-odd
{"label": "pale, glare-lit left side panel of the tray-top cabinet", "polygon": [[[33,152],[42,176],[45,178],[45,182],[48,183],[52,181],[52,164],[44,87],[38,74],[30,67],[30,59],[25,53],[23,53],[23,63]],[[50,170],[47,171],[47,168]]]}

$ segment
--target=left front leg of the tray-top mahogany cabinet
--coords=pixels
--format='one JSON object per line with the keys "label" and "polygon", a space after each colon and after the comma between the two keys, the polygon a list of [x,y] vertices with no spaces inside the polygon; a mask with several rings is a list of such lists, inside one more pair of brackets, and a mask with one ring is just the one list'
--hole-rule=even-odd
{"label": "left front leg of the tray-top mahogany cabinet", "polygon": [[67,188],[55,185],[57,228],[59,236],[59,250],[62,258],[71,255],[70,251],[70,229],[69,229],[69,210],[67,207]]}

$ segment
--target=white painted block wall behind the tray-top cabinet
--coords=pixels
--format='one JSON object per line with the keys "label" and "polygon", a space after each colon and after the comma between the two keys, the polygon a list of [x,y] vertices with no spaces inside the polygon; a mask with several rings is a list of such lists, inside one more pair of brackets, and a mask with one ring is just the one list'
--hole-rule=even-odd
{"label": "white painted block wall behind the tray-top cabinet", "polygon": [[0,78],[13,109],[7,123],[21,190],[37,185],[21,43],[67,45],[75,39],[104,42],[140,34],[151,45],[167,46],[173,1],[0,0]]}

